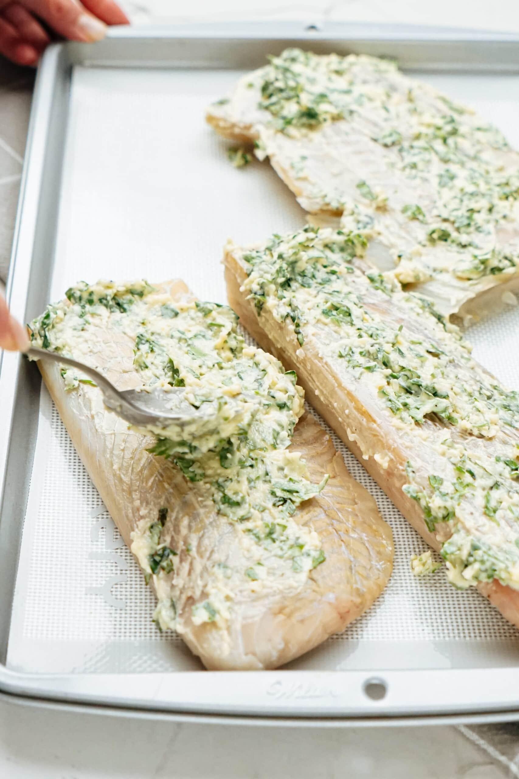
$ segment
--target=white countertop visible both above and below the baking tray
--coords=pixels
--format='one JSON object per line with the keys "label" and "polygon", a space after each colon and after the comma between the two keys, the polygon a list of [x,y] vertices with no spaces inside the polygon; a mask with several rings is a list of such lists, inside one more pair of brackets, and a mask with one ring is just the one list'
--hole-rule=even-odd
{"label": "white countertop visible both above and below the baking tray", "polygon": [[[519,31],[516,0],[174,0],[121,2],[135,23],[299,19],[430,23]],[[465,731],[466,735],[471,735]],[[499,779],[498,753],[457,728],[281,728],[174,724],[0,701],[5,779]],[[483,744],[483,746],[485,746]],[[490,750],[492,752],[492,750]],[[514,775],[519,776],[519,771]]]}

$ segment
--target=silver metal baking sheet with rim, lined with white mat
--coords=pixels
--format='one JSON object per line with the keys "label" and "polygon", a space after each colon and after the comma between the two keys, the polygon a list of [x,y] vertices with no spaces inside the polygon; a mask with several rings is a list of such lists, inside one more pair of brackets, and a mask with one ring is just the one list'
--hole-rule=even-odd
{"label": "silver metal baking sheet with rim, lined with white mat", "polygon": [[[260,27],[175,37],[116,32],[95,48],[66,44],[45,55],[8,289],[20,319],[75,281],[99,277],[182,277],[199,298],[225,302],[226,239],[247,244],[304,223],[268,164],[236,170],[228,144],[204,122],[207,105],[241,72],[286,44],[396,55],[408,72],[492,118],[519,147],[519,49],[510,37],[355,35],[335,26],[326,38]],[[519,390],[517,333],[519,307],[503,305],[468,338],[476,357]],[[202,671],[179,638],[156,629],[153,595],[37,372],[16,356],[4,358],[0,403],[7,410],[0,440],[9,442],[0,460],[0,689],[263,717],[519,710],[517,630],[475,591],[454,590],[443,573],[412,576],[409,557],[426,545],[335,435],[349,470],[391,524],[391,581],[363,617],[290,672],[219,675]],[[373,679],[385,693],[380,700],[366,695]]]}

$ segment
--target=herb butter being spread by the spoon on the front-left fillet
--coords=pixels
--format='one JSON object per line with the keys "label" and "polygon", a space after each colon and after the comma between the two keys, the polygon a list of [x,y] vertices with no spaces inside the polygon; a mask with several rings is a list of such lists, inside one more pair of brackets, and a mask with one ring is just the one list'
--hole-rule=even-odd
{"label": "herb butter being spread by the spoon on the front-left fillet", "polygon": [[[181,387],[193,407],[211,404],[216,414],[209,432],[207,425],[202,431],[192,425],[184,428],[183,439],[174,437],[173,427],[154,429],[149,448],[180,468],[198,499],[209,499],[213,511],[239,527],[244,547],[252,548],[247,568],[219,564],[211,572],[215,584],[207,600],[193,607],[195,624],[226,623],[237,581],[239,587],[245,581],[252,592],[269,576],[287,590],[302,586],[308,572],[324,561],[324,552],[317,534],[300,527],[293,515],[300,502],[321,491],[327,478],[310,483],[300,454],[288,450],[303,413],[303,390],[295,373],[285,372],[271,354],[245,345],[237,316],[226,306],[189,298],[173,302],[169,293],[146,281],[80,283],[66,298],[34,320],[34,344],[96,368],[92,344],[97,340],[99,349],[100,333],[107,333],[107,348],[112,340],[131,344],[133,358],[124,371],[135,372],[135,385],[142,391]],[[92,383],[65,368],[61,375],[69,392]],[[97,392],[90,387],[82,391]],[[240,413],[229,414],[230,401]],[[159,597],[156,620],[163,629],[175,626],[170,588],[179,552],[167,542],[167,515],[163,507],[132,534],[132,552],[147,579],[153,576]]]}

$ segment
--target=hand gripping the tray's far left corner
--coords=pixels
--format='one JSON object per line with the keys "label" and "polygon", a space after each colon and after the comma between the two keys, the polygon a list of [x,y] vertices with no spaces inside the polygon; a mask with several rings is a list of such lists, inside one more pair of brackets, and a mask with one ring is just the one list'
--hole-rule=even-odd
{"label": "hand gripping the tray's far left corner", "polygon": [[0,54],[34,65],[51,42],[47,29],[90,43],[105,36],[107,24],[128,24],[114,0],[0,0]]}

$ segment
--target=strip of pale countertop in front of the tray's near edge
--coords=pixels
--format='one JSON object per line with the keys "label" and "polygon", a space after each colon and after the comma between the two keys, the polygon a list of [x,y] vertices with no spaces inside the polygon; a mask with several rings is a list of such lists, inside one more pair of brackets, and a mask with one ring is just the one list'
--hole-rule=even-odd
{"label": "strip of pale countertop in front of the tray's near edge", "polygon": [[[2,771],[3,769],[3,771]],[[170,724],[0,703],[5,779],[505,779],[455,728]]]}

